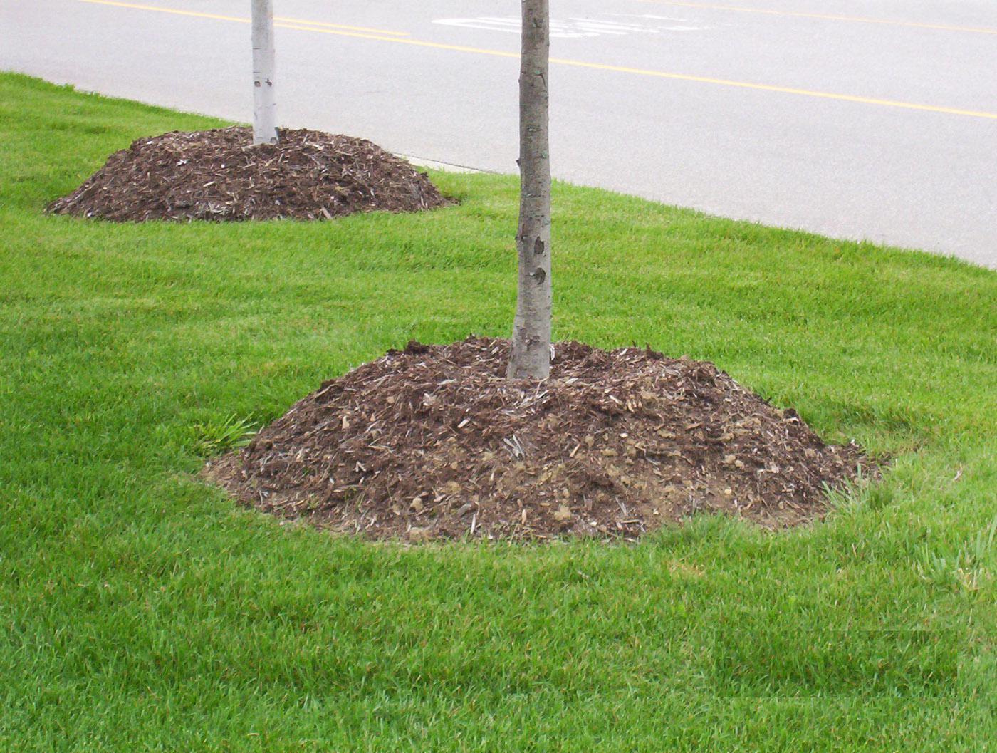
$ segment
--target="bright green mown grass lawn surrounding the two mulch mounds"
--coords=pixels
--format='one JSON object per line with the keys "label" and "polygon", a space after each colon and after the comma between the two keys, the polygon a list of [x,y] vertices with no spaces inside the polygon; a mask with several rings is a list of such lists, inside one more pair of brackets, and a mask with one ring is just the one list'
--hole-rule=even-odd
{"label": "bright green mown grass lawn surrounding the two mulch mounds", "polygon": [[311,224],[42,211],[217,125],[0,75],[0,750],[997,750],[997,274],[558,185],[557,338],[712,360],[890,471],[784,534],[337,539],[198,452],[411,338],[506,335],[517,182]]}

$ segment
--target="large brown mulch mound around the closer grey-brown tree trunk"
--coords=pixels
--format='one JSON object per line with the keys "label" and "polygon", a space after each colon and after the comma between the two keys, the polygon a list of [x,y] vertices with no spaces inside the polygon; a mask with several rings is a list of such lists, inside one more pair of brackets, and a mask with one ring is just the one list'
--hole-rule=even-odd
{"label": "large brown mulch mound around the closer grey-brown tree trunk", "polygon": [[427,541],[634,539],[706,512],[782,528],[875,473],[711,363],[564,342],[533,382],[504,378],[508,350],[472,337],[389,351],[205,475],[267,513]]}

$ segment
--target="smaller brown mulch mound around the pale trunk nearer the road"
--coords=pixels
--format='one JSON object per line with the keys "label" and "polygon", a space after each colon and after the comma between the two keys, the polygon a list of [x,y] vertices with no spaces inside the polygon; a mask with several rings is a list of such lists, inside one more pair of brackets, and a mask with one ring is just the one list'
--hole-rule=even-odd
{"label": "smaller brown mulch mound around the pale trunk nearer the road", "polygon": [[48,210],[114,221],[331,219],[357,211],[419,211],[448,203],[425,173],[376,144],[281,130],[252,145],[225,128],[139,139]]}

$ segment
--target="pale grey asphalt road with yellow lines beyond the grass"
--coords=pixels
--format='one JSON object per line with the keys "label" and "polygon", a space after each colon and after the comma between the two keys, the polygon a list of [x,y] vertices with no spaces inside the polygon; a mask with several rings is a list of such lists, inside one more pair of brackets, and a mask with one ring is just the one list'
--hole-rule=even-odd
{"label": "pale grey asphalt road with yellow lines beyond the grass", "polygon": [[[997,267],[997,3],[744,2],[551,0],[554,175]],[[274,4],[282,124],[515,170],[515,0]],[[248,121],[248,14],[0,0],[0,69]]]}

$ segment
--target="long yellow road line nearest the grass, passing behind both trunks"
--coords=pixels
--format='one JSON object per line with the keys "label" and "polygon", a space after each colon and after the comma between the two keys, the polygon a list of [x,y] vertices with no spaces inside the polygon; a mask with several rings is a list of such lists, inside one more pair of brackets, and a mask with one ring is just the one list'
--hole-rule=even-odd
{"label": "long yellow road line nearest the grass, passing behind both trunks", "polygon": [[[156,6],[140,6],[131,3],[117,2],[116,0],[80,0],[85,3],[97,3],[100,5],[120,5],[126,8],[139,8],[162,11],[166,13],[181,13],[183,15],[204,16],[223,21],[247,22],[248,19],[236,18],[233,16],[215,16],[193,11],[173,11]],[[298,31],[317,32],[319,34],[334,34],[339,37],[355,37],[359,39],[371,39],[377,42],[395,42],[403,45],[414,45],[417,47],[429,47],[436,50],[452,50],[455,52],[468,52],[476,55],[490,55],[499,58],[518,58],[517,52],[506,52],[504,50],[490,50],[484,47],[468,47],[466,45],[448,45],[440,42],[424,42],[419,39],[405,39],[400,37],[385,37],[377,34],[364,34],[361,32],[338,31],[335,29],[324,29],[315,26],[298,26],[294,24],[277,24],[284,29],[295,29]],[[628,66],[605,65],[602,63],[588,63],[582,60],[570,60],[567,58],[550,58],[550,62],[555,65],[572,66],[574,68],[590,68],[597,71],[612,71],[615,73],[626,73],[635,76],[649,76],[659,79],[673,79],[676,81],[692,81],[700,84],[714,84],[717,86],[733,87],[736,89],[754,89],[761,92],[778,92],[780,94],[794,94],[802,97],[814,97],[824,100],[836,100],[838,102],[853,102],[861,105],[876,105],[879,107],[899,108],[901,110],[919,110],[928,113],[943,113],[945,115],[960,115],[968,118],[984,118],[986,120],[997,121],[997,113],[987,113],[978,110],[962,110],[959,108],[939,107],[936,105],[920,105],[913,102],[900,102],[898,100],[881,100],[873,97],[859,97],[850,94],[835,94],[833,92],[820,92],[811,89],[797,89],[794,87],[781,87],[771,84],[755,84],[748,81],[733,81],[731,79],[717,79],[710,76],[693,76],[684,73],[670,73],[668,71],[654,71],[646,68],[630,68]]]}

